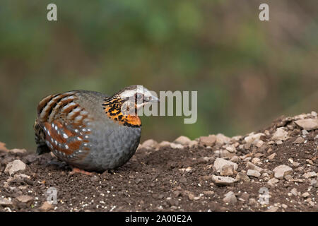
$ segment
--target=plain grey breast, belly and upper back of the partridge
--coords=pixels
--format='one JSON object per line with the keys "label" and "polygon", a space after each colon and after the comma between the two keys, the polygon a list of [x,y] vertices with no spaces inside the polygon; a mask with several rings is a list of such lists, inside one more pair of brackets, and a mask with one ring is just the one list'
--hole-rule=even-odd
{"label": "plain grey breast, belly and upper back of the partridge", "polygon": [[81,96],[78,103],[93,115],[93,121],[87,126],[90,153],[76,164],[98,171],[124,165],[139,145],[141,128],[122,126],[109,119],[102,108],[107,95],[90,91],[81,91],[78,95]]}

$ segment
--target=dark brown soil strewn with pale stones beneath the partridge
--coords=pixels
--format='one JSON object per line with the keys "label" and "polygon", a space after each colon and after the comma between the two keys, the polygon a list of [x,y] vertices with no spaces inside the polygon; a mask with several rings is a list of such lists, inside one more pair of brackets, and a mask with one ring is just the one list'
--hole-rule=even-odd
{"label": "dark brown soil strewn with pale stones beneath the partridge", "polygon": [[245,136],[148,140],[90,176],[0,143],[0,211],[317,211],[317,158],[316,112]]}

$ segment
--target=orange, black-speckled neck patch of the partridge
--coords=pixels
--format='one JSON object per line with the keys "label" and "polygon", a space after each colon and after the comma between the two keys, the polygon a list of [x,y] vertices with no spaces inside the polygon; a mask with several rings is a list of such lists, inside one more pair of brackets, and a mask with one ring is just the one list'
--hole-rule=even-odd
{"label": "orange, black-speckled neck patch of the partridge", "polygon": [[105,103],[102,106],[105,109],[105,113],[109,119],[116,121],[118,124],[129,127],[141,127],[141,120],[137,114],[123,114],[122,104],[124,100],[120,98],[110,97],[105,99]]}

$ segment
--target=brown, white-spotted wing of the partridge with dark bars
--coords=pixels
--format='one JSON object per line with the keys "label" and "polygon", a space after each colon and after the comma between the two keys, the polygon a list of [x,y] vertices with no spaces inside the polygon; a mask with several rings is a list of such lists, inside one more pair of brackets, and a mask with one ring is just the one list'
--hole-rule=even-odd
{"label": "brown, white-spotted wing of the partridge with dark bars", "polygon": [[78,160],[90,150],[88,129],[92,118],[76,101],[76,91],[49,95],[37,107],[42,141],[61,159]]}

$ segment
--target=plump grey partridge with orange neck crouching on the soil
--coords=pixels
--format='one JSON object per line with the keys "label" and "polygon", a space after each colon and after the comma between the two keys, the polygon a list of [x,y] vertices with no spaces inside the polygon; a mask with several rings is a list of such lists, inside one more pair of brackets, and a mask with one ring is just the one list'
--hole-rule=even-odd
{"label": "plump grey partridge with orange neck crouching on the soil", "polygon": [[143,85],[130,85],[112,96],[87,90],[48,95],[37,105],[36,152],[52,152],[78,172],[120,167],[140,142],[137,111],[155,102],[158,97]]}

